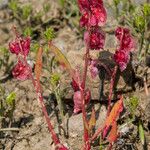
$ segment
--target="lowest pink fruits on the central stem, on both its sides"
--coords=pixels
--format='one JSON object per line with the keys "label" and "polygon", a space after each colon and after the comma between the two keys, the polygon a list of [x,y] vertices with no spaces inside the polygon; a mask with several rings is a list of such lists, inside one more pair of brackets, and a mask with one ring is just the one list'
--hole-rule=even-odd
{"label": "lowest pink fruits on the central stem, on both its sides", "polygon": [[[85,104],[88,104],[91,98],[90,90],[85,91]],[[82,111],[82,98],[81,98],[81,91],[76,91],[73,96],[74,100],[74,113],[79,113]]]}

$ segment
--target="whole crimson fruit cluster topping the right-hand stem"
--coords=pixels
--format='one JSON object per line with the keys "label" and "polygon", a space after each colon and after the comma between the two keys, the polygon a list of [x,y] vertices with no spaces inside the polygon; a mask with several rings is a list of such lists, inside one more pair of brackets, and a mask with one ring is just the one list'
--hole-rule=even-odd
{"label": "whole crimson fruit cluster topping the right-hand stem", "polygon": [[135,48],[135,41],[127,28],[118,27],[115,35],[119,41],[119,47],[114,54],[114,60],[120,70],[124,71],[130,61],[130,52]]}

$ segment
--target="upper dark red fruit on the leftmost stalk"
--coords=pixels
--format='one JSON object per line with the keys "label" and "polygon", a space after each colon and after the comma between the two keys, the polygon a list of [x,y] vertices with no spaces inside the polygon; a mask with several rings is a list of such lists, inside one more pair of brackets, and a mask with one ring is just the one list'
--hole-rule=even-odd
{"label": "upper dark red fruit on the leftmost stalk", "polygon": [[22,54],[27,56],[30,50],[30,38],[18,38],[13,42],[9,43],[9,49],[11,53],[16,55]]}

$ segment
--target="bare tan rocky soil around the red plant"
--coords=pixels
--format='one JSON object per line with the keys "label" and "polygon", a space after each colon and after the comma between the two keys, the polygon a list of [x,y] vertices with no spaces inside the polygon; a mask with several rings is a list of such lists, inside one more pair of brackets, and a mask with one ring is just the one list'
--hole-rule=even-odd
{"label": "bare tan rocky soil around the red plant", "polygon": [[[109,0],[108,3],[112,1]],[[143,2],[136,1],[137,4]],[[17,29],[22,32],[22,27],[26,25],[26,22],[23,20],[19,22],[17,19],[12,17],[12,12],[8,8],[9,1],[0,0],[0,47],[8,48],[8,43],[10,40],[14,38],[12,32],[12,26],[15,25]],[[38,13],[42,6],[45,3],[50,4],[50,11],[46,13],[46,15],[42,15],[41,24],[35,24],[35,32],[39,33],[44,30],[45,24],[46,26],[51,26],[56,31],[56,38],[54,39],[54,44],[59,47],[72,67],[81,66],[83,63],[83,54],[84,54],[84,44],[81,38],[80,31],[78,30],[78,26],[74,27],[71,23],[72,20],[67,20],[63,18],[62,8],[58,1],[49,0],[19,0],[20,5],[31,4],[34,12]],[[110,56],[115,50],[116,42],[114,38],[112,30],[115,29],[118,24],[115,20],[112,10],[108,7],[108,21],[107,25],[103,28],[106,31],[106,52],[101,52],[102,59],[107,59],[107,64],[112,65],[112,60]],[[77,20],[78,21],[78,20]],[[40,30],[40,31],[39,31]],[[37,34],[38,36],[38,34]],[[43,41],[36,37],[34,40],[38,40],[39,43],[43,43]],[[1,53],[1,51],[0,51]],[[136,52],[135,52],[136,53]],[[97,54],[91,54],[96,56]],[[3,58],[3,55],[0,56]],[[11,56],[9,58],[8,64],[15,63],[15,57]],[[31,52],[30,59],[35,60],[35,52]],[[0,125],[0,149],[2,150],[53,150],[54,144],[52,142],[51,136],[48,132],[47,124],[41,112],[41,108],[39,103],[37,102],[37,97],[32,86],[31,81],[18,81],[13,79],[11,76],[11,68],[6,69],[5,66],[2,66],[0,71],[0,85],[6,90],[6,93],[10,93],[12,91],[16,92],[16,107],[13,113],[13,119],[11,124],[7,124],[7,120],[5,123],[1,122]],[[137,77],[140,78],[143,76],[143,68],[139,67]],[[141,71],[142,70],[142,71]],[[44,71],[43,71],[44,72]],[[118,91],[122,91],[125,99],[129,99],[131,96],[137,96],[139,98],[139,108],[137,110],[137,116],[142,114],[144,127],[145,127],[145,139],[146,139],[146,148],[150,149],[150,95],[145,94],[145,88],[139,86],[139,82],[135,84],[135,90],[131,84],[127,84],[127,80],[130,80],[132,76],[129,74],[129,70],[127,70],[124,74],[121,74],[119,83],[117,85]],[[147,86],[150,86],[150,70],[148,68],[149,77]],[[44,72],[45,73],[45,72]],[[43,76],[45,75],[43,73]],[[46,74],[47,75],[47,74]],[[66,77],[64,81],[64,88],[66,83],[70,82],[69,77]],[[110,79],[107,78],[105,82],[105,95],[108,94]],[[92,92],[92,101],[91,106],[95,107],[96,115],[97,115],[97,124],[101,126],[106,117],[106,103],[101,103],[98,101],[99,99],[99,78],[94,81],[88,77],[87,86],[90,87]],[[61,141],[69,147],[70,150],[80,150],[82,147],[82,136],[83,136],[83,123],[82,123],[82,115],[72,115],[73,112],[73,101],[72,101],[72,89],[69,87],[69,94],[65,97],[64,103],[66,105],[66,110],[69,113],[68,120],[68,137],[64,137],[63,134],[60,135]],[[149,90],[149,89],[148,89]],[[52,118],[52,123],[54,125],[56,133],[59,134],[58,130],[58,122],[56,118],[56,114],[54,111],[54,102],[50,100],[50,91],[43,85],[43,96],[44,101],[48,109],[49,116]],[[66,101],[65,101],[66,100]],[[90,107],[91,107],[90,106]],[[57,109],[57,107],[55,108]],[[140,110],[142,109],[142,110]],[[141,113],[144,111],[143,113]],[[126,112],[128,113],[128,111]],[[125,115],[124,115],[125,116]],[[123,117],[122,117],[123,118]],[[3,131],[4,128],[8,130]],[[14,128],[14,130],[12,130]],[[121,127],[120,127],[121,128]],[[125,131],[126,130],[126,131]],[[135,120],[134,124],[127,124],[124,129],[120,129],[121,137],[118,139],[117,144],[114,146],[114,149],[126,149],[133,150],[138,149],[142,150],[143,147],[140,143],[138,137],[138,126]],[[93,144],[92,150],[100,149],[98,144]]]}

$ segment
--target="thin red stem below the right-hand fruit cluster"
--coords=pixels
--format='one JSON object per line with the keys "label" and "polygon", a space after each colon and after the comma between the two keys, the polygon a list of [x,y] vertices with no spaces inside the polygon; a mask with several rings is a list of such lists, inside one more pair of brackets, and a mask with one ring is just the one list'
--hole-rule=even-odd
{"label": "thin red stem below the right-hand fruit cluster", "polygon": [[115,66],[115,68],[113,70],[112,77],[111,77],[111,81],[110,81],[107,116],[109,116],[109,113],[110,113],[110,110],[111,110],[111,99],[112,99],[112,95],[113,95],[113,88],[114,88],[114,82],[115,82],[117,69],[118,69],[118,66]]}

